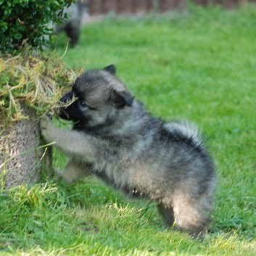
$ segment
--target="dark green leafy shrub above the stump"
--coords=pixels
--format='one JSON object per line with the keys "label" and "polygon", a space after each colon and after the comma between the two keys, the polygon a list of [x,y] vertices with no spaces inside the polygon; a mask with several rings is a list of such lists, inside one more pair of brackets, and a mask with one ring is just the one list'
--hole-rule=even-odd
{"label": "dark green leafy shrub above the stump", "polygon": [[30,46],[41,49],[54,39],[51,22],[61,22],[64,7],[74,0],[0,0],[0,51],[16,53]]}

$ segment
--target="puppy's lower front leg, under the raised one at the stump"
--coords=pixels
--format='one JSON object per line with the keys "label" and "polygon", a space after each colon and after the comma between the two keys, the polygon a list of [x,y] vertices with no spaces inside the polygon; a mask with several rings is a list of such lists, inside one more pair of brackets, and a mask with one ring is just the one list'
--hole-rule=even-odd
{"label": "puppy's lower front leg, under the raised one at the stump", "polygon": [[61,176],[67,183],[73,183],[90,174],[91,169],[87,165],[82,165],[80,162],[71,159],[67,162],[65,170],[62,173],[57,173],[57,176]]}

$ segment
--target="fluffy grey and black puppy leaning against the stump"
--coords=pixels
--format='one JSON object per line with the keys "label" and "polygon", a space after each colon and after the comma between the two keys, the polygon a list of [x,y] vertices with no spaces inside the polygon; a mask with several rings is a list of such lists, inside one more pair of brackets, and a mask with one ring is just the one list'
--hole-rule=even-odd
{"label": "fluffy grey and black puppy leaning against the stump", "polygon": [[60,117],[61,130],[44,117],[46,141],[70,155],[63,178],[73,182],[95,173],[117,189],[156,200],[166,226],[204,236],[210,224],[215,168],[197,127],[165,123],[147,112],[115,75],[115,66],[88,70],[62,97],[75,102]]}

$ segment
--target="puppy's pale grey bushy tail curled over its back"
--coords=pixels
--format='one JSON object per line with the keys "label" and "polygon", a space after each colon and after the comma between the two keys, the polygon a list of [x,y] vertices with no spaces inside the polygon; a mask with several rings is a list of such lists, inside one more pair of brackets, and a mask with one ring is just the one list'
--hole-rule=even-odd
{"label": "puppy's pale grey bushy tail curled over its back", "polygon": [[202,134],[194,123],[179,120],[165,123],[165,128],[176,138],[191,141],[194,146],[202,146]]}

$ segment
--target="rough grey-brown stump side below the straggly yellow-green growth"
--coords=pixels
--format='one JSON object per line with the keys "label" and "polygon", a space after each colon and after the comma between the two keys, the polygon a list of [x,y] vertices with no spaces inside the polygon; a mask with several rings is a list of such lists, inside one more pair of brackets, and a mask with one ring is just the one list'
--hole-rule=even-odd
{"label": "rough grey-brown stump side below the straggly yellow-green growth", "polygon": [[[10,122],[0,131],[1,187],[35,183],[43,170],[51,176],[51,149],[41,147],[39,120],[36,113],[22,105],[23,115],[29,119]],[[39,147],[39,148],[38,148]]]}

